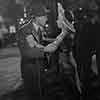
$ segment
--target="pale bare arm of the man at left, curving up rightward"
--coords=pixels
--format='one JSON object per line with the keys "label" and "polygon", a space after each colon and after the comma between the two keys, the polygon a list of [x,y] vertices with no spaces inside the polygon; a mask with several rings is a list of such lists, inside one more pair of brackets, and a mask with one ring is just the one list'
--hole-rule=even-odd
{"label": "pale bare arm of the man at left, curving up rightward", "polygon": [[52,53],[57,50],[58,46],[60,45],[60,43],[63,41],[63,39],[65,38],[67,34],[68,34],[67,31],[61,32],[61,34],[58,35],[57,38],[53,40],[53,42],[48,44],[47,46],[43,46],[39,44],[37,41],[35,41],[34,37],[31,34],[28,35],[26,39],[31,48],[39,48],[43,52]]}

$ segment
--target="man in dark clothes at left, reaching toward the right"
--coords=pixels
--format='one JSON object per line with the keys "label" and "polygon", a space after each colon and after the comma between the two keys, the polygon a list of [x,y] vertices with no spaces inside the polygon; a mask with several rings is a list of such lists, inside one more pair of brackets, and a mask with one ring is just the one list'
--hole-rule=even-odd
{"label": "man in dark clothes at left, reaching toward the right", "polygon": [[18,47],[21,53],[21,72],[28,100],[40,99],[41,95],[40,66],[42,66],[44,46],[40,44],[40,41],[42,28],[47,21],[43,5],[37,5],[33,9],[33,15],[35,18],[20,27],[17,33]]}

